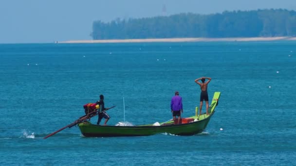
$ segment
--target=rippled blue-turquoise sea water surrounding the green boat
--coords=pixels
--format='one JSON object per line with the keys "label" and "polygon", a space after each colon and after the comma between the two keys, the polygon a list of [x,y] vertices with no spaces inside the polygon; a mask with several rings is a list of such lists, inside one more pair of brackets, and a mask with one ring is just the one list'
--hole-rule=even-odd
{"label": "rippled blue-turquoise sea water surrounding the green boat", "polygon": [[[0,163],[293,165],[295,46],[296,42],[0,45]],[[116,105],[109,111],[109,125],[170,119],[175,90],[183,97],[183,116],[192,116],[200,94],[194,80],[202,76],[212,78],[209,98],[215,91],[221,98],[201,134],[86,138],[73,127],[42,139],[83,116],[83,105],[100,94],[106,107]]]}

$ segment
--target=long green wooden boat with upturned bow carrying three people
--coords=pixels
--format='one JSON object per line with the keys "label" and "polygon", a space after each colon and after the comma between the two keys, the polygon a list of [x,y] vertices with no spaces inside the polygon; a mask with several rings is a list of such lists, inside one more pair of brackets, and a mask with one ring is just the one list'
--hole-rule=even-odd
{"label": "long green wooden boat with upturned bow carrying three people", "polygon": [[[155,126],[153,124],[138,126],[100,126],[89,121],[78,124],[82,135],[86,137],[113,137],[113,136],[146,136],[157,133],[170,133],[174,135],[194,135],[203,132],[215,113],[215,108],[220,98],[220,92],[215,92],[209,106],[209,115],[205,113],[197,116],[182,118],[181,124],[174,125],[173,121],[167,121]],[[198,119],[198,120],[197,120]]]}

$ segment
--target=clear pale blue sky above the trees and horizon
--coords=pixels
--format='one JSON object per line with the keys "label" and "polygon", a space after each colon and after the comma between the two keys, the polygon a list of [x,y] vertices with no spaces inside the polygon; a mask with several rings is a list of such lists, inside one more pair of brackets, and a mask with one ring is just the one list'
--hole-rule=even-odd
{"label": "clear pale blue sky above the trees and horizon", "polygon": [[91,40],[92,22],[179,13],[296,10],[296,0],[0,0],[0,43]]}

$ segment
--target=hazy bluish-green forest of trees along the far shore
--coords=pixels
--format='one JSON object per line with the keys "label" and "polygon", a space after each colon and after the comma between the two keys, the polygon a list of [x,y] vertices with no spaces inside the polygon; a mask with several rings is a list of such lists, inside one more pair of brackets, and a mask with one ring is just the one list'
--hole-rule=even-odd
{"label": "hazy bluish-green forest of trees along the far shore", "polygon": [[145,39],[183,37],[274,37],[296,36],[296,11],[266,9],[225,11],[200,15],[94,21],[91,36],[99,39]]}

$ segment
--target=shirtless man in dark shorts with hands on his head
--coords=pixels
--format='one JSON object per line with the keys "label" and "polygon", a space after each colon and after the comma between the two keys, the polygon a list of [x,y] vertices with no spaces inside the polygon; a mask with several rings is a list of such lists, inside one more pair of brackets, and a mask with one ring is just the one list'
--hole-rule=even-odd
{"label": "shirtless man in dark shorts with hands on his head", "polygon": [[[206,83],[204,83],[205,79],[208,79],[208,81]],[[199,80],[202,80],[202,83],[199,82]],[[202,115],[202,108],[203,108],[203,100],[205,100],[205,104],[206,104],[206,115],[208,114],[208,109],[209,109],[209,97],[207,95],[207,84],[211,81],[211,78],[209,77],[202,77],[199,79],[195,80],[195,83],[199,84],[201,86],[201,103],[200,103],[200,115]]]}

